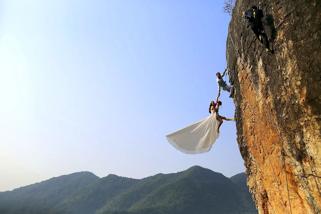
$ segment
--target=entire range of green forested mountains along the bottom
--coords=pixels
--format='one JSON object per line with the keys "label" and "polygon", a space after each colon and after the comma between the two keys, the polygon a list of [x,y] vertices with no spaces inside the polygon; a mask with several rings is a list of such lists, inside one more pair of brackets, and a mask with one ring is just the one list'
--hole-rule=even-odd
{"label": "entire range of green forested mountains along the bottom", "polygon": [[229,179],[194,166],[143,179],[99,178],[90,172],[62,175],[0,192],[0,213],[257,214],[257,210],[245,173]]}

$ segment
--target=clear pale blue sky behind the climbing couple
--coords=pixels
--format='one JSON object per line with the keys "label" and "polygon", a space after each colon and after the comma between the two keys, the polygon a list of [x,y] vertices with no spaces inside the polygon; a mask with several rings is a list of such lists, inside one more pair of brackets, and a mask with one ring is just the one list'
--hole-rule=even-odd
{"label": "clear pale blue sky behind the climbing couple", "polygon": [[[226,66],[223,1],[0,4],[0,191],[79,171],[245,171],[233,121],[204,154],[165,138],[209,116]],[[233,118],[228,92],[221,101]]]}

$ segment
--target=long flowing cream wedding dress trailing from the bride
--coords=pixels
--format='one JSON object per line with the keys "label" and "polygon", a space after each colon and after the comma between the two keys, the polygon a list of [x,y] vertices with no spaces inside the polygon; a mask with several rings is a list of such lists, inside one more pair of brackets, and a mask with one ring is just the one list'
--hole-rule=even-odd
{"label": "long flowing cream wedding dress trailing from the bride", "polygon": [[186,154],[205,153],[211,150],[220,136],[216,131],[218,124],[216,111],[211,110],[211,116],[166,135],[166,139],[177,150]]}

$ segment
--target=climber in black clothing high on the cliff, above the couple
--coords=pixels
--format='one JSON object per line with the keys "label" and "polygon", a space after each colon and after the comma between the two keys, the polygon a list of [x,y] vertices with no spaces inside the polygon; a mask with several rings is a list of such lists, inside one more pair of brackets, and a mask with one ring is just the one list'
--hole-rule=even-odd
{"label": "climber in black clothing high on the cliff, above the couple", "polygon": [[264,17],[263,11],[260,9],[257,9],[256,6],[252,6],[251,9],[248,11],[242,12],[244,15],[244,18],[248,20],[250,23],[250,27],[255,33],[257,39],[265,45],[266,51],[271,52],[269,40],[267,39],[267,36],[265,34],[265,30],[262,24],[261,19]]}

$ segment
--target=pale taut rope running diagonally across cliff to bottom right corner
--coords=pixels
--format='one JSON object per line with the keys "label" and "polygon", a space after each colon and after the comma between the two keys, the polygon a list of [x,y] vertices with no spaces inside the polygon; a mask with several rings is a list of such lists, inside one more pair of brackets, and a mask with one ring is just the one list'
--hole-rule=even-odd
{"label": "pale taut rope running diagonally across cliff to bottom right corner", "polygon": [[[285,143],[283,142],[282,137],[280,136],[280,133],[278,132],[278,130],[277,130],[276,126],[275,126],[275,123],[273,122],[273,119],[272,119],[270,113],[268,112],[268,110],[267,110],[267,108],[266,108],[266,106],[265,106],[265,103],[264,103],[261,95],[259,94],[259,92],[258,92],[255,84],[253,83],[253,79],[252,79],[249,71],[247,70],[247,67],[245,66],[245,64],[244,64],[241,56],[239,55],[238,50],[237,50],[236,47],[235,47],[234,41],[233,41],[232,36],[231,36],[231,34],[230,34],[230,30],[229,30],[229,36],[230,36],[231,42],[232,42],[232,44],[233,44],[233,47],[234,47],[234,49],[235,49],[235,53],[237,53],[237,54],[236,54],[236,57],[239,57],[239,58],[240,58],[241,63],[243,64],[245,70],[247,71],[247,74],[248,74],[248,76],[250,77],[250,80],[251,80],[251,82],[252,82],[252,84],[253,84],[253,86],[254,86],[254,89],[255,89],[256,93],[259,95],[259,98],[261,99],[261,101],[262,101],[262,103],[263,103],[263,106],[265,107],[265,110],[266,110],[268,116],[270,117],[271,122],[272,122],[272,124],[273,124],[273,126],[274,126],[274,128],[275,128],[275,130],[276,130],[276,132],[277,132],[277,134],[279,135],[280,140],[281,140],[284,148],[286,149],[286,151],[287,151],[287,153],[288,153],[288,155],[289,155],[289,157],[290,157],[290,159],[291,159],[291,162],[292,162],[293,166],[295,167],[295,169],[296,169],[296,171],[297,171],[297,173],[298,173],[298,175],[299,175],[299,177],[300,177],[300,180],[302,181],[302,184],[304,185],[304,187],[305,187],[305,189],[306,189],[306,191],[307,191],[307,193],[308,193],[308,195],[309,195],[309,197],[310,197],[310,199],[311,199],[311,201],[312,201],[315,209],[317,210],[317,213],[320,214],[320,212],[319,212],[319,210],[317,209],[317,206],[316,206],[314,200],[312,199],[312,197],[311,197],[311,195],[310,195],[310,193],[309,193],[309,191],[308,191],[308,188],[306,187],[306,185],[305,185],[305,183],[304,183],[304,181],[303,181],[303,179],[302,179],[302,177],[301,177],[301,175],[300,175],[300,173],[299,173],[299,170],[297,169],[297,167],[296,167],[296,165],[295,165],[295,163],[294,163],[294,161],[293,161],[293,159],[292,159],[292,157],[291,157],[291,155],[290,155],[289,150],[287,149]],[[242,73],[242,75],[243,75],[243,73]],[[273,172],[274,172],[274,170],[273,170]],[[274,174],[274,175],[275,175],[275,174]],[[280,193],[280,194],[281,194],[281,193]],[[281,197],[282,197],[282,194],[281,194]],[[283,201],[283,198],[282,198],[282,201]],[[283,201],[283,203],[284,203],[284,201]],[[284,205],[284,204],[283,204],[283,205]],[[286,209],[285,209],[285,210],[286,210]]]}

